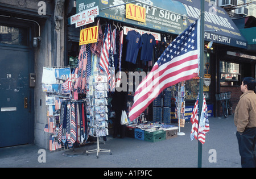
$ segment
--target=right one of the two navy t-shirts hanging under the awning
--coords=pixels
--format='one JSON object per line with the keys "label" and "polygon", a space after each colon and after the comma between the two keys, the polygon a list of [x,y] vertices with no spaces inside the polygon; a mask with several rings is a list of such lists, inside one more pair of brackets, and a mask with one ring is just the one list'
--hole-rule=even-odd
{"label": "right one of the two navy t-shirts hanging under the awning", "polygon": [[143,34],[142,38],[142,49],[141,49],[141,60],[152,61],[155,37],[152,34]]}

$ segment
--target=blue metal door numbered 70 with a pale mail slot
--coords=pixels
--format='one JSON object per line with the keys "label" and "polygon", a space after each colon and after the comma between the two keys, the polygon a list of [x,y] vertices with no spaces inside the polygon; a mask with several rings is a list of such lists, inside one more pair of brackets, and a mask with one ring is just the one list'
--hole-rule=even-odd
{"label": "blue metal door numbered 70 with a pale mail slot", "polygon": [[34,138],[30,31],[0,22],[0,147],[28,144]]}

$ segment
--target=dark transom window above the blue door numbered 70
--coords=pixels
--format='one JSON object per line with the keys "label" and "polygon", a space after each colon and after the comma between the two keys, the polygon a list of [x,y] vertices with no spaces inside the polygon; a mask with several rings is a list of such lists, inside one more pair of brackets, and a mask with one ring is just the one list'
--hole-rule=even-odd
{"label": "dark transom window above the blue door numbered 70", "polygon": [[0,43],[28,45],[28,29],[0,24]]}

